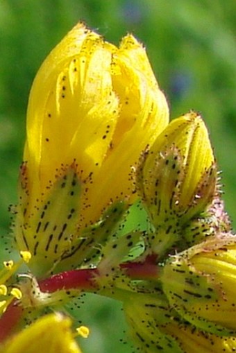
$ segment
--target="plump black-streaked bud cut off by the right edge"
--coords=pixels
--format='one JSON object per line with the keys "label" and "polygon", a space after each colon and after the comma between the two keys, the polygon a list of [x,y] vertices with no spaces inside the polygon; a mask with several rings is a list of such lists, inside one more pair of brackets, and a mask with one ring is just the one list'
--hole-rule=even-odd
{"label": "plump black-streaked bud cut off by the right edge", "polygon": [[236,237],[212,236],[171,257],[160,277],[169,303],[193,325],[236,335]]}

